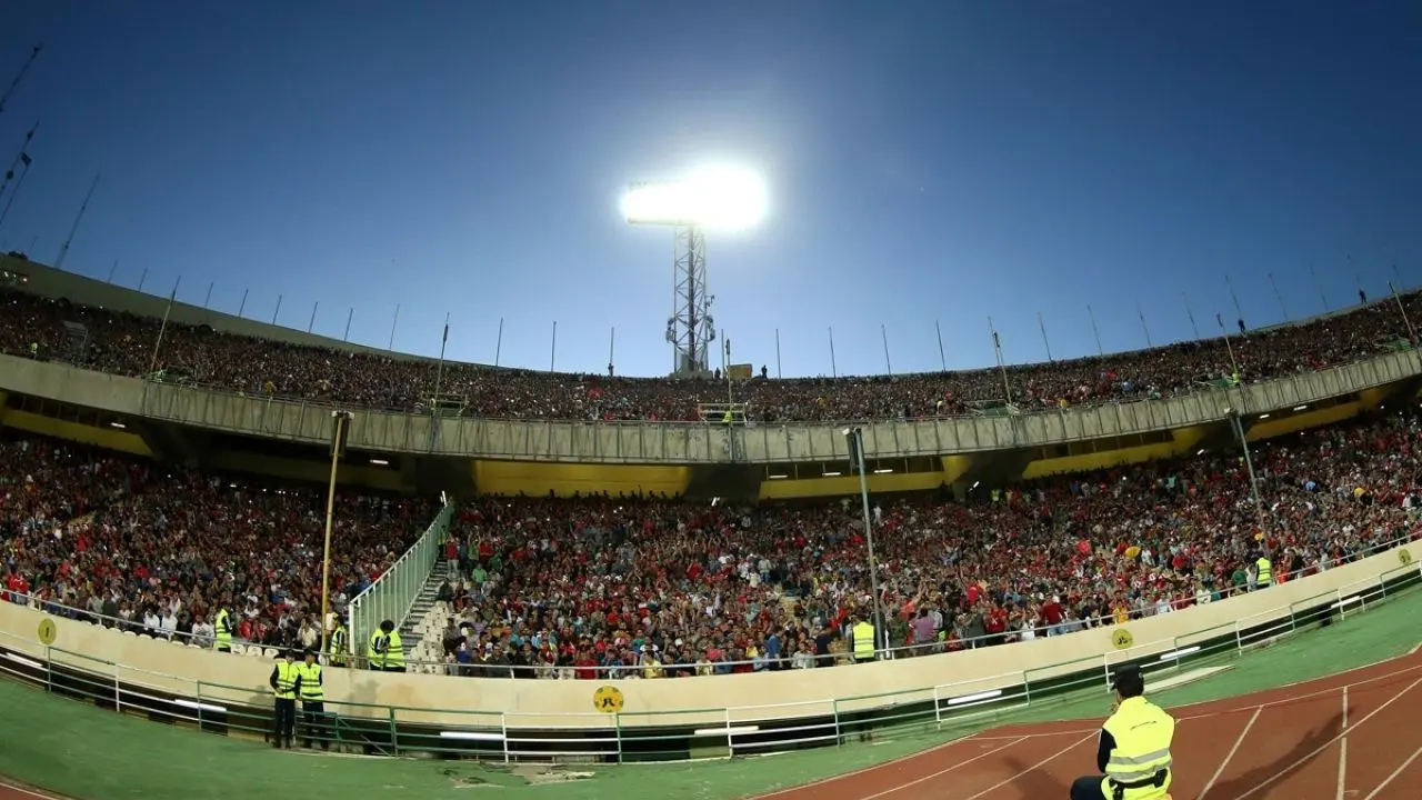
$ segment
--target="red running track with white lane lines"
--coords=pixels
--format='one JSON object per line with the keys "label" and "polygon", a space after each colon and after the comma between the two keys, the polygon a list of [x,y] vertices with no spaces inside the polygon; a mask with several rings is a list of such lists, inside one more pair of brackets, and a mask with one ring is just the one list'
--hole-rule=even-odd
{"label": "red running track with white lane lines", "polygon": [[[1172,709],[1175,800],[1413,800],[1422,653]],[[1102,720],[1020,725],[759,800],[1065,800]],[[1411,789],[1409,789],[1411,787]],[[0,781],[0,800],[64,800]]]}

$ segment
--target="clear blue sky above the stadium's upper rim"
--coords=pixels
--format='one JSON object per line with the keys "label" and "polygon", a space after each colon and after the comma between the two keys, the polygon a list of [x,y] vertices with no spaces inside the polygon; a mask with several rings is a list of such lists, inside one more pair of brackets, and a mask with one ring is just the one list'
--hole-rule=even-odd
{"label": "clear blue sky above the stadium's upper rim", "polygon": [[[784,374],[1108,350],[1422,283],[1416,3],[21,0],[0,228],[65,269],[397,349],[661,374],[671,236],[629,181],[764,172],[708,243],[735,362]],[[1348,266],[1352,256],[1354,269]]]}

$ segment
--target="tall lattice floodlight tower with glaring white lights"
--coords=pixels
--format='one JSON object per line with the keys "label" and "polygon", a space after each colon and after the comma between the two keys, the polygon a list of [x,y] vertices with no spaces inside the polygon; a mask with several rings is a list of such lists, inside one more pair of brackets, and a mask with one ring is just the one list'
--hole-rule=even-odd
{"label": "tall lattice floodlight tower with glaring white lights", "polygon": [[752,174],[705,169],[681,181],[631,184],[621,209],[631,225],[673,228],[673,310],[665,333],[674,352],[673,374],[710,373],[715,295],[707,289],[705,231],[759,222],[764,185]]}

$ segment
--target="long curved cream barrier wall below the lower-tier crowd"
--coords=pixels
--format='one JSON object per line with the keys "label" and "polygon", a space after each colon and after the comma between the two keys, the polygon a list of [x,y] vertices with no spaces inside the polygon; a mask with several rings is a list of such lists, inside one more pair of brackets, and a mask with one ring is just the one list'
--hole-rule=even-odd
{"label": "long curved cream barrier wall below the lower-tier crowd", "polygon": [[[1408,552],[1404,554],[1404,549]],[[1359,586],[1375,585],[1384,575],[1396,577],[1401,564],[1412,562],[1412,557],[1422,557],[1422,544],[1412,542],[1261,592],[1133,621],[1122,626],[1135,641],[1135,646],[1125,652],[1112,642],[1112,635],[1121,628],[1105,628],[1018,645],[857,666],[611,682],[624,696],[619,725],[724,725],[731,717],[812,716],[828,713],[830,700],[838,702],[839,712],[852,712],[892,702],[924,700],[933,696],[936,685],[940,693],[943,685],[953,683],[961,690],[951,695],[967,695],[1018,686],[1025,679],[1039,682],[1054,675],[1081,672],[1092,663],[1105,668],[1108,662],[1125,658],[1170,652],[1182,646],[1182,641],[1203,641],[1229,635],[1237,626],[1287,618],[1291,604],[1330,592],[1342,599]],[[1416,565],[1408,568],[1415,569]],[[44,621],[55,625],[48,653],[38,633]],[[112,673],[121,683],[146,685],[189,698],[201,695],[213,703],[264,705],[269,699],[266,686],[272,662],[267,659],[124,635],[84,622],[54,619],[9,602],[0,602],[0,646],[36,659],[48,656],[88,672]],[[326,670],[328,700],[364,705],[341,706],[340,713],[449,726],[499,725],[502,715],[515,716],[519,726],[606,726],[609,717],[593,707],[593,692],[606,683]],[[391,712],[391,707],[397,710]]]}

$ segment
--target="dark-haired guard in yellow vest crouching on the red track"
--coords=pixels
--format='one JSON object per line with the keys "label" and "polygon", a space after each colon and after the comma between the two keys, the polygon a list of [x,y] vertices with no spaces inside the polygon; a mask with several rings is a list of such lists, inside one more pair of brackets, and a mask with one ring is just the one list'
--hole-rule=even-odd
{"label": "dark-haired guard in yellow vest crouching on the red track", "polygon": [[1078,777],[1071,800],[1170,800],[1175,719],[1145,699],[1139,666],[1122,665],[1115,689],[1116,702],[1096,750],[1096,767],[1106,774]]}

